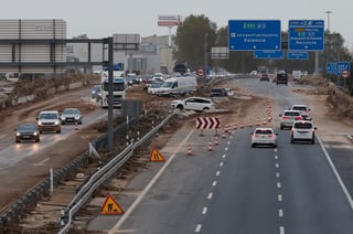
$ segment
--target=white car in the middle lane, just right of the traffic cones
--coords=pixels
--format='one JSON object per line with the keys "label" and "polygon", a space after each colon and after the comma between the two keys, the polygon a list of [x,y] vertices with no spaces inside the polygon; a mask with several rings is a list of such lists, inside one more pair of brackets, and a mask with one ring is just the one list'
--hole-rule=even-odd
{"label": "white car in the middle lane, just right of the traffic cones", "polygon": [[274,128],[255,128],[252,132],[252,147],[259,145],[277,147],[277,136]]}

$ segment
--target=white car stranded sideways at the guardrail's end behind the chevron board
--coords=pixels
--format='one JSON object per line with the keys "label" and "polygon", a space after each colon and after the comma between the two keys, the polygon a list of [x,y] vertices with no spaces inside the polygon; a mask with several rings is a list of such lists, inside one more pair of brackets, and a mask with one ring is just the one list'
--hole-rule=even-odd
{"label": "white car stranded sideways at the guardrail's end behind the chevron board", "polygon": [[172,100],[171,107],[173,109],[190,109],[197,111],[207,111],[211,109],[215,109],[215,105],[212,99],[204,97],[188,97],[182,100]]}

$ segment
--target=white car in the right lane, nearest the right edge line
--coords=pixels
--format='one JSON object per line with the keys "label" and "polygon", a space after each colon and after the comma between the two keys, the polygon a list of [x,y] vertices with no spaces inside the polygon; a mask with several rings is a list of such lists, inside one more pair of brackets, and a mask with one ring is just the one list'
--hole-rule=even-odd
{"label": "white car in the right lane, nearest the right edge line", "polygon": [[295,141],[310,141],[315,143],[315,130],[311,120],[295,121],[290,130],[290,142]]}

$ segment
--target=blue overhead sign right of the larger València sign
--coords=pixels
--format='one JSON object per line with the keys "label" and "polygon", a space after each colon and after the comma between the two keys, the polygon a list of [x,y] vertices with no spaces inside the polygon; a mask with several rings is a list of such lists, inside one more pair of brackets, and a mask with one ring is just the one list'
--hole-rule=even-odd
{"label": "blue overhead sign right of the larger Val\u00e8ncia sign", "polygon": [[288,50],[323,51],[323,20],[290,20]]}

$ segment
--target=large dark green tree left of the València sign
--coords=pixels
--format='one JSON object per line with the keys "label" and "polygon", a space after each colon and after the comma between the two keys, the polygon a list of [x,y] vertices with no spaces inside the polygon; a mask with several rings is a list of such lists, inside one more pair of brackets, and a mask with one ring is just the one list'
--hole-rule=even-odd
{"label": "large dark green tree left of the Val\u00e8ncia sign", "polygon": [[174,57],[178,62],[186,62],[189,68],[195,71],[204,66],[205,46],[207,51],[207,62],[211,62],[211,47],[216,38],[216,24],[211,22],[205,15],[189,15],[183,24],[178,26],[175,45],[178,50]]}

